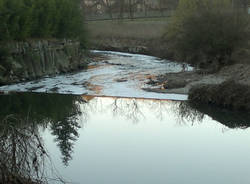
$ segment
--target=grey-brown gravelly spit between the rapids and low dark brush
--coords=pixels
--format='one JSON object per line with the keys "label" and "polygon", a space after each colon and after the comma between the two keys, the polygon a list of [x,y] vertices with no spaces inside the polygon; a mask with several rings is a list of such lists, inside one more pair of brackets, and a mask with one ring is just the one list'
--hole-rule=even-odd
{"label": "grey-brown gravelly spit between the rapids and low dark brush", "polygon": [[162,93],[188,94],[190,89],[199,85],[221,84],[228,80],[250,86],[250,65],[234,64],[223,67],[220,71],[208,74],[205,71],[182,71],[166,73],[151,79],[150,87],[144,90]]}

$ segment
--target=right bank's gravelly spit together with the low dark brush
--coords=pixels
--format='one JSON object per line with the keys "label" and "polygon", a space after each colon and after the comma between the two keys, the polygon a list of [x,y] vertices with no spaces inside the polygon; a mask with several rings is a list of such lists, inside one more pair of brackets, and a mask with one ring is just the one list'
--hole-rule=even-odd
{"label": "right bank's gravelly spit together with the low dark brush", "polygon": [[250,111],[250,65],[235,64],[219,72],[169,73],[151,79],[146,91],[188,94],[194,104],[210,104],[231,110]]}

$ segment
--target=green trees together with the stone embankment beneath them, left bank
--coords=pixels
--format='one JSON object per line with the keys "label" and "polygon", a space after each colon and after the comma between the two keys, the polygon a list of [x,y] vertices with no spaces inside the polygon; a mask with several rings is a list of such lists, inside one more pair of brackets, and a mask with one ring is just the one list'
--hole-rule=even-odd
{"label": "green trees together with the stone embankment beneath them, left bank", "polygon": [[79,0],[0,0],[0,85],[87,65]]}

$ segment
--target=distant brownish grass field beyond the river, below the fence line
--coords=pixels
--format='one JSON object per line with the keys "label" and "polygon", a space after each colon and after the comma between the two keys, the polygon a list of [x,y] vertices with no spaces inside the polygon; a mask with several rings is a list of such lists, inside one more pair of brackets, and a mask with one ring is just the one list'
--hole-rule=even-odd
{"label": "distant brownish grass field beyond the river, below the fence line", "polygon": [[105,20],[87,22],[92,39],[159,39],[166,30],[169,18],[144,18],[135,20]]}

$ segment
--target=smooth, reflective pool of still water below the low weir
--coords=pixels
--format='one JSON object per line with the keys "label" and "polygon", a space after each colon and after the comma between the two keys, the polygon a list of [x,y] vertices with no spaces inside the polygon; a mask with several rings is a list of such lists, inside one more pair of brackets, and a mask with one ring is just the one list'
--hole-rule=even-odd
{"label": "smooth, reflective pool of still water below the low weir", "polygon": [[28,117],[69,183],[250,183],[246,114],[115,97],[21,93],[0,101],[1,122]]}

